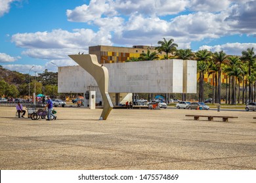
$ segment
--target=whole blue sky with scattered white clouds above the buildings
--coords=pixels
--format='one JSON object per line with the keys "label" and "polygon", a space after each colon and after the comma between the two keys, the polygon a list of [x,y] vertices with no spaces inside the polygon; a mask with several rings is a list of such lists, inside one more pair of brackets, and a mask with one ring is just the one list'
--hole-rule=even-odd
{"label": "whole blue sky with scattered white clouds above the buildings", "polygon": [[255,9],[251,0],[0,0],[0,65],[55,72],[89,46],[158,46],[163,37],[240,55],[256,50]]}

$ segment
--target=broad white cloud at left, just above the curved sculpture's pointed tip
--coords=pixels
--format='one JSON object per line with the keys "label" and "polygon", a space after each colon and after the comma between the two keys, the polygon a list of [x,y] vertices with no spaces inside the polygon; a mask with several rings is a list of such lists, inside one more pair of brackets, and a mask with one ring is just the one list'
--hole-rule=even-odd
{"label": "broad white cloud at left, just above the curved sculpture's pointed tip", "polygon": [[56,29],[52,32],[17,33],[12,35],[16,46],[28,48],[26,56],[40,59],[64,59],[68,54],[88,53],[89,46],[111,45],[108,31],[94,32],[91,29],[74,29],[74,32]]}

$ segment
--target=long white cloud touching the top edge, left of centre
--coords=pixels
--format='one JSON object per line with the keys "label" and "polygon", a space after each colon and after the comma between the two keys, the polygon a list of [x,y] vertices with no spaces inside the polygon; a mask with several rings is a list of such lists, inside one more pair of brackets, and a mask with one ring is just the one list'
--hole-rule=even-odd
{"label": "long white cloud touching the top edge, left of centre", "polygon": [[165,16],[182,12],[188,4],[188,0],[93,0],[89,5],[67,10],[66,15],[71,22],[91,22],[103,16],[130,16],[137,12],[144,16]]}

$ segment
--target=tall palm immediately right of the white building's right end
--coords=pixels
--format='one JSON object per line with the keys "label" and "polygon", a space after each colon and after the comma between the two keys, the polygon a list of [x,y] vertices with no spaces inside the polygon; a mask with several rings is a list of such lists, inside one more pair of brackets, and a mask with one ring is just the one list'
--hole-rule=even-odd
{"label": "tall palm immediately right of the white building's right end", "polygon": [[[196,52],[196,59],[198,60],[198,64],[200,64],[200,67],[202,67],[200,70],[203,69],[203,67],[206,67],[207,69],[207,61],[211,60],[211,52],[208,50],[200,50]],[[205,62],[205,65],[203,66],[203,63]],[[205,71],[203,71],[205,72]],[[200,80],[199,80],[199,101],[203,102],[203,83],[204,83],[204,75],[200,73]]]}

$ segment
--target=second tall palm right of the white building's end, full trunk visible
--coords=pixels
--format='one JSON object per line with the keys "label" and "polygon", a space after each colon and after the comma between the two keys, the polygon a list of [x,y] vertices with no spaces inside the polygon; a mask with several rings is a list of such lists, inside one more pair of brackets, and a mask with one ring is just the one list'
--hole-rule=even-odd
{"label": "second tall palm right of the white building's end, full trunk visible", "polygon": [[215,52],[213,54],[213,59],[215,61],[215,64],[217,65],[218,68],[218,95],[217,95],[217,103],[221,104],[221,65],[223,63],[226,63],[227,61],[227,57],[226,54],[223,52],[223,50],[221,52]]}

